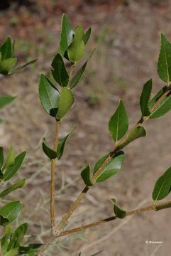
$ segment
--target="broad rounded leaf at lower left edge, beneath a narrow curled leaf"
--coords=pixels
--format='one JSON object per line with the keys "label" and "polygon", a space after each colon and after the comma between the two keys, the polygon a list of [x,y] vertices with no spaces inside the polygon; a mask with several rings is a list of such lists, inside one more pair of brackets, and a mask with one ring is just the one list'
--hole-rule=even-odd
{"label": "broad rounded leaf at lower left edge, beneath a narrow curled leaf", "polygon": [[0,225],[7,225],[15,220],[21,213],[22,205],[20,201],[7,203],[0,210]]}

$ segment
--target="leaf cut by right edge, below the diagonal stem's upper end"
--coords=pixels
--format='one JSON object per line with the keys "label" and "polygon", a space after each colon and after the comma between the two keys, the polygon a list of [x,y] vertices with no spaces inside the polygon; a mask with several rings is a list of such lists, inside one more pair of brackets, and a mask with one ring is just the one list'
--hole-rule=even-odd
{"label": "leaf cut by right edge, below the diagonal stem's upper end", "polygon": [[158,107],[155,107],[150,114],[150,118],[158,118],[162,117],[162,115],[166,114],[171,110],[171,92],[165,96],[165,98],[158,104]]}

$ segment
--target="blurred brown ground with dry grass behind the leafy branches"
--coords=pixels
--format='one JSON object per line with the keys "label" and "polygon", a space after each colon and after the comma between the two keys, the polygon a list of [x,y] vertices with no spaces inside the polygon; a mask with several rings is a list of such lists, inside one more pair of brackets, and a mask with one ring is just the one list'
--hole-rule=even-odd
{"label": "blurred brown ground with dry grass behind the leafy branches", "polygon": [[[86,74],[75,90],[75,105],[62,122],[60,138],[78,124],[67,143],[65,155],[57,165],[57,222],[75,201],[84,184],[80,169],[93,164],[114,146],[108,122],[119,98],[129,114],[130,127],[140,117],[139,97],[143,84],[153,78],[153,94],[162,87],[157,74],[160,31],[171,41],[171,2],[169,0],[3,0],[0,1],[0,41],[16,39],[16,55],[21,63],[38,58],[17,75],[1,78],[1,94],[17,95],[1,116],[0,142],[7,151],[13,145],[26,150],[19,176],[27,177],[23,191],[13,193],[23,200],[18,222],[29,223],[29,242],[43,242],[50,232],[50,162],[40,142],[47,137],[53,144],[55,124],[38,100],[40,73],[50,73],[57,53],[62,14],[72,27],[92,26],[90,52],[96,46]],[[81,63],[80,63],[81,65]],[[121,172],[91,189],[67,224],[67,228],[113,215],[109,199],[117,198],[126,210],[152,202],[155,180],[171,165],[170,114],[145,124],[147,137],[125,149]],[[17,225],[18,223],[16,223]],[[170,255],[170,210],[116,220],[57,240],[45,255],[141,256]],[[146,244],[159,240],[162,245]]]}

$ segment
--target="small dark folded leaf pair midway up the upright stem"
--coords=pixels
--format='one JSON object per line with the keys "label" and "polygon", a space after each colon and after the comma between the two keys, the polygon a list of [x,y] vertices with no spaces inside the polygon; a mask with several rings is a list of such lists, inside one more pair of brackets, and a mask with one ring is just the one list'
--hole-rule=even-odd
{"label": "small dark folded leaf pair midway up the upright stem", "polygon": [[62,157],[67,139],[70,137],[70,135],[72,134],[72,132],[75,130],[76,127],[77,126],[73,127],[70,133],[61,139],[61,141],[57,145],[57,151],[50,149],[50,147],[45,143],[45,138],[43,138],[43,144],[42,144],[43,151],[46,154],[46,156],[48,156],[49,159],[57,158],[59,160]]}

